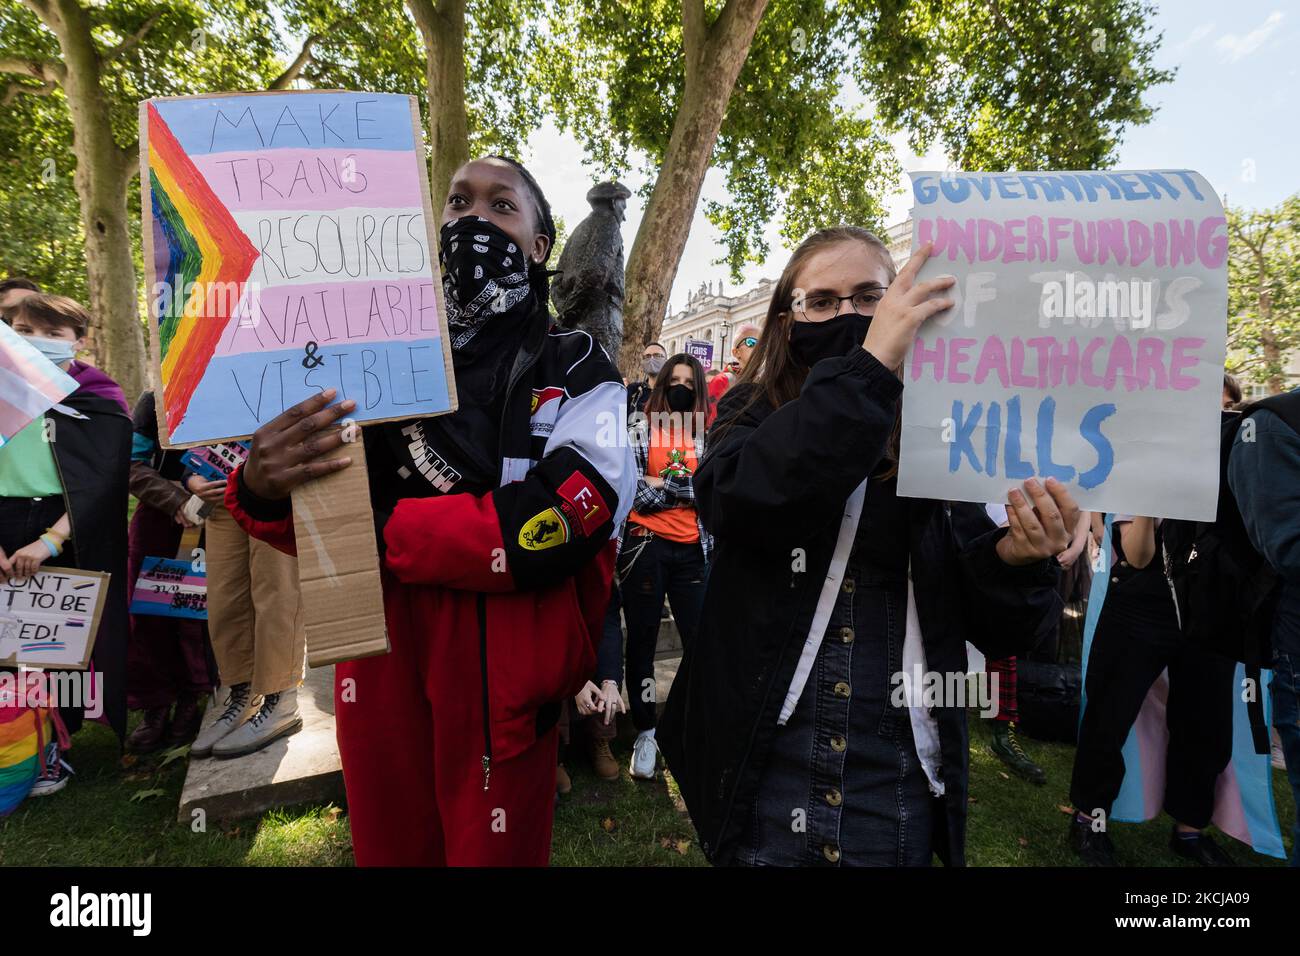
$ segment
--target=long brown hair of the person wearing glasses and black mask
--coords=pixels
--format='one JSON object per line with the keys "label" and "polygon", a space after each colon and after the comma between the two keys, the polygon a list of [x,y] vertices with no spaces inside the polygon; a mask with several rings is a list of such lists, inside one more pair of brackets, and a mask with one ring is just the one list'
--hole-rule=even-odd
{"label": "long brown hair of the person wearing glasses and black mask", "polygon": [[[803,268],[803,264],[814,254],[841,242],[861,242],[871,248],[885,267],[885,274],[892,284],[898,274],[889,248],[875,233],[867,232],[862,226],[838,225],[829,229],[819,229],[798,245],[790,255],[790,260],[781,271],[781,277],[772,290],[772,300],[767,306],[767,319],[763,323],[763,334],[759,336],[754,354],[749,356],[749,363],[736,381],[737,386],[749,386],[751,394],[745,405],[727,420],[719,419],[715,428],[716,436],[723,434],[727,428],[738,420],[745,411],[758,402],[767,402],[772,408],[780,408],[786,402],[798,397],[803,388],[803,380],[809,376],[809,367],[790,354],[790,328],[794,325],[794,280]],[[894,418],[893,434],[889,438],[888,458],[893,466],[884,475],[889,477],[897,471],[898,441],[901,437],[902,420]]]}

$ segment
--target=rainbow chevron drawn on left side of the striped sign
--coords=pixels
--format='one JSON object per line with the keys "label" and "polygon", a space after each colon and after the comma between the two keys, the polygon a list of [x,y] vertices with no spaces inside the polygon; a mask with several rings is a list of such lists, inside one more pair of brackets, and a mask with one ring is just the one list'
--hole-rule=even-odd
{"label": "rainbow chevron drawn on left side of the striped sign", "polygon": [[[150,194],[153,200],[155,274],[170,284],[157,321],[168,429],[185,419],[229,315],[208,315],[209,286],[243,287],[257,250],[217,199],[208,181],[148,104]],[[220,284],[220,285],[214,285]],[[187,291],[188,290],[188,291]]]}

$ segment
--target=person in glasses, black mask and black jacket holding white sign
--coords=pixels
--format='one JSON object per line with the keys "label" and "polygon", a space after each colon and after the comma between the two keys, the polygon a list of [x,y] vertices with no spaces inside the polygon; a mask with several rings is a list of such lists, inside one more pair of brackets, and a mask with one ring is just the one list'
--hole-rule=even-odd
{"label": "person in glasses, black mask and black jacket holding white sign", "polygon": [[[659,744],[718,864],[965,862],[966,641],[1056,623],[1078,507],[1054,480],[984,507],[897,494],[898,368],[950,277],[871,233],[812,234],[696,475],[714,535]],[[936,693],[937,684],[937,693]]]}

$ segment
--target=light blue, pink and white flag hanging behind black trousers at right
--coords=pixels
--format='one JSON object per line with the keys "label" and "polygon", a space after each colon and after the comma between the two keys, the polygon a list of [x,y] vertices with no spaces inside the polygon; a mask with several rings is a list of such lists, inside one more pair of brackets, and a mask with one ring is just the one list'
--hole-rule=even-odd
{"label": "light blue, pink and white flag hanging behind black trousers at right", "polygon": [[[1093,566],[1092,591],[1088,593],[1088,615],[1083,631],[1083,678],[1088,679],[1088,656],[1092,637],[1097,631],[1101,605],[1110,584],[1109,568],[1114,562],[1110,544],[1112,516],[1106,515],[1106,533],[1101,542],[1101,558]],[[1100,570],[1098,570],[1100,568]],[[1261,672],[1260,693],[1264,696],[1264,714],[1271,723],[1273,706],[1269,700],[1269,671]],[[1286,858],[1282,844],[1282,826],[1273,801],[1273,767],[1269,754],[1256,753],[1251,739],[1251,722],[1245,704],[1236,688],[1245,679],[1245,667],[1236,666],[1232,685],[1232,758],[1219,774],[1214,786],[1213,823],[1228,836],[1240,840],[1256,853]],[[1141,823],[1160,814],[1165,797],[1165,754],[1169,730],[1165,723],[1165,702],[1169,698],[1169,674],[1161,674],[1152,684],[1141,711],[1124,741],[1124,782],[1110,810],[1110,819],[1121,823]],[[1087,706],[1087,689],[1079,701],[1079,719]]]}

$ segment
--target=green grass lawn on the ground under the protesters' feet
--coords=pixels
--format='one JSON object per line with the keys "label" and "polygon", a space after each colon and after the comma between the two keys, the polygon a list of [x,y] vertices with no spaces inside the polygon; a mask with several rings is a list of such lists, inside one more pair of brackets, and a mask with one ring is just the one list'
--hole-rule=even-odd
{"label": "green grass lawn on the ground under the protesters' feet", "polygon": [[[1008,775],[988,748],[989,731],[971,719],[971,803],[967,858],[972,866],[1070,866],[1065,845],[1072,748],[1022,741],[1048,773],[1035,787]],[[578,750],[580,748],[571,748]],[[628,748],[615,744],[618,780],[597,778],[577,753],[568,760],[573,791],[555,810],[555,866],[703,866],[690,821],[671,778],[632,780]],[[126,765],[108,728],[87,724],[69,754],[77,775],[61,793],[29,800],[0,821],[0,866],[104,864],[126,866],[348,866],[347,814],[335,806],[290,806],[255,819],[194,832],[176,821],[186,760],[146,757]],[[1274,774],[1278,814],[1288,839],[1295,808],[1280,771]],[[1115,823],[1121,861],[1171,866],[1170,822]],[[1275,866],[1235,840],[1222,843],[1239,864]]]}

